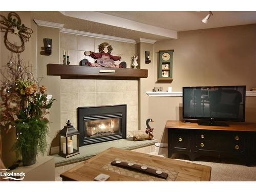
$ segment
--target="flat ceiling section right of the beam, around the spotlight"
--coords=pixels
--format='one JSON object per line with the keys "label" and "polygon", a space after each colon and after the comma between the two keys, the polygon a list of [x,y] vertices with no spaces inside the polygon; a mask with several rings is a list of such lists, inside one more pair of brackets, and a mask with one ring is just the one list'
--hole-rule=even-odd
{"label": "flat ceiling section right of the beam, around the spotlight", "polygon": [[212,11],[208,24],[201,20],[208,11],[100,11],[147,25],[175,31],[256,24],[256,11]]}

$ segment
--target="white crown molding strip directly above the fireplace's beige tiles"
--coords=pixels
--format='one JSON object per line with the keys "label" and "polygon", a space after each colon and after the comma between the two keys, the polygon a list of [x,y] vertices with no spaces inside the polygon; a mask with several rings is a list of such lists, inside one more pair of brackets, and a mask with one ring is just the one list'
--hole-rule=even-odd
{"label": "white crown molding strip directly above the fireplace's beige tiles", "polygon": [[130,42],[131,44],[136,44],[136,41],[134,39],[127,39],[127,38],[115,37],[115,36],[110,36],[110,35],[102,35],[102,34],[97,34],[97,33],[86,32],[86,31],[78,31],[78,30],[73,30],[73,29],[62,28],[62,29],[60,29],[60,32],[74,34],[74,35],[82,35],[82,36],[87,36],[87,37],[103,38],[103,39],[116,40],[116,41],[122,41],[122,42]]}

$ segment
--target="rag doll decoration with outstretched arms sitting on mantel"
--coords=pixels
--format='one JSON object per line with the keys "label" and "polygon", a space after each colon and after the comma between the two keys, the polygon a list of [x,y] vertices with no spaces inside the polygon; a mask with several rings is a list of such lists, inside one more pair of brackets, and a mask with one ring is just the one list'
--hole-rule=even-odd
{"label": "rag doll decoration with outstretched arms sitting on mantel", "polygon": [[84,55],[88,55],[94,59],[97,59],[95,63],[87,62],[86,66],[91,67],[108,67],[108,68],[126,68],[126,62],[122,61],[119,64],[115,64],[115,61],[121,60],[121,57],[111,55],[113,50],[112,46],[108,42],[102,42],[99,45],[99,53],[92,51],[84,52]]}

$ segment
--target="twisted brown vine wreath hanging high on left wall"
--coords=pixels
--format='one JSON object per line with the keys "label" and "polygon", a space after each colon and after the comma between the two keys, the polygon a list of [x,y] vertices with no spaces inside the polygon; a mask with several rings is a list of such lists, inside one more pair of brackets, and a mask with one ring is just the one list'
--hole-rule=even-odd
{"label": "twisted brown vine wreath hanging high on left wall", "polygon": [[[5,33],[4,42],[6,48],[14,53],[21,53],[24,51],[24,42],[29,41],[33,30],[22,24],[20,17],[15,12],[10,12],[6,18],[1,16],[1,32]],[[19,37],[20,42],[11,42],[8,37],[10,34],[15,34]]]}

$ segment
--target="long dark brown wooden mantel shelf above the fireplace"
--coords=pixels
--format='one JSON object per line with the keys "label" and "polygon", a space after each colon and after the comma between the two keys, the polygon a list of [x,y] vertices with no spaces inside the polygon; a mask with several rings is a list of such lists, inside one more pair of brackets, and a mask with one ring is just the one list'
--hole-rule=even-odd
{"label": "long dark brown wooden mantel shelf above the fireplace", "polygon": [[146,69],[100,68],[73,65],[47,65],[47,75],[61,79],[139,79],[147,77]]}

